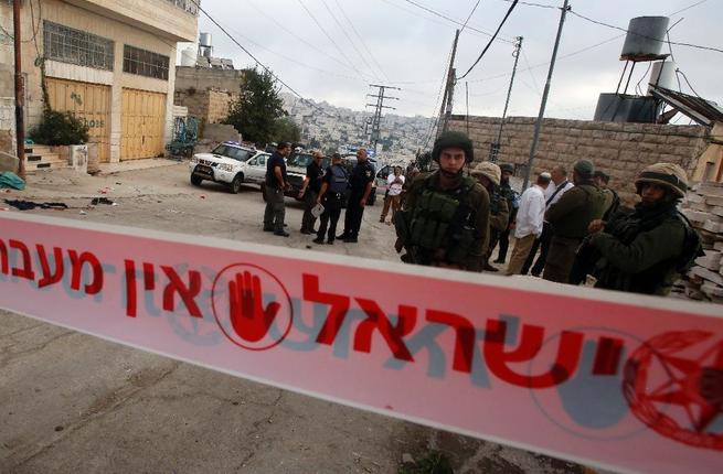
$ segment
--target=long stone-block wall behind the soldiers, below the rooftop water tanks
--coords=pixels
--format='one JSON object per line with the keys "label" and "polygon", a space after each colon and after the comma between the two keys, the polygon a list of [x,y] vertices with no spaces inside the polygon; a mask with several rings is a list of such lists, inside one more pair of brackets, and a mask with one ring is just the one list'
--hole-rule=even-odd
{"label": "long stone-block wall behind the soldiers, below the rooftop water tanks", "polygon": [[[508,117],[504,121],[498,162],[513,163],[518,176],[527,169],[534,122],[532,117]],[[475,161],[488,159],[499,126],[499,117],[469,117]],[[453,116],[449,128],[467,132],[466,117]],[[532,176],[556,164],[565,165],[571,175],[573,163],[585,158],[612,176],[610,187],[630,204],[632,182],[642,168],[672,162],[692,176],[709,141],[710,129],[701,126],[544,119]]]}

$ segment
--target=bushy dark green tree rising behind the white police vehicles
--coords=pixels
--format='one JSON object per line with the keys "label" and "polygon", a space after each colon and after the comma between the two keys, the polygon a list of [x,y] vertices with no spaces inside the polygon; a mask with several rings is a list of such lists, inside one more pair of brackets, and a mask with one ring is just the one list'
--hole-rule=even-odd
{"label": "bushy dark green tree rising behind the white police vehicles", "polygon": [[278,120],[287,116],[278,93],[279,87],[270,72],[244,69],[238,100],[231,104],[224,123],[234,126],[244,140],[255,143],[273,141]]}

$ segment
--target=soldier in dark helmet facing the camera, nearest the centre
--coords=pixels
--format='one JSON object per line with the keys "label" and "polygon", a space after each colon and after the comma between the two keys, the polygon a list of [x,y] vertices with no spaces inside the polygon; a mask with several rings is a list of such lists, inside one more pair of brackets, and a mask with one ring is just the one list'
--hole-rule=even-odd
{"label": "soldier in dark helmet facing the camera, nearest the centre", "polygon": [[479,271],[489,231],[489,195],[462,175],[474,159],[466,134],[448,131],[432,151],[439,169],[417,177],[395,219],[395,249],[402,260],[432,267]]}

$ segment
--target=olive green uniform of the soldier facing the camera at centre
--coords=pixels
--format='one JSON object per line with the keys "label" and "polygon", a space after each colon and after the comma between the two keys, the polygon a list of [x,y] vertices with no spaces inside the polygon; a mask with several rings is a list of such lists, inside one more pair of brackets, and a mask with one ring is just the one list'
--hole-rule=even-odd
{"label": "olive green uniform of the soldier facing the camera at centre", "polygon": [[461,177],[455,188],[443,190],[439,171],[417,177],[397,216],[397,236],[407,250],[404,261],[479,271],[489,238],[490,200],[474,179]]}

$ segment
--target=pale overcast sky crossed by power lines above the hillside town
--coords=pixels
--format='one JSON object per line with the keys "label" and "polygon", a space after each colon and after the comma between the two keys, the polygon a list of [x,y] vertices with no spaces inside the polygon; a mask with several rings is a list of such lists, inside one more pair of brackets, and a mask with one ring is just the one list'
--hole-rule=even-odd
{"label": "pale overcast sky crossed by power lines above the hillside town", "polygon": [[[202,0],[203,9],[258,62],[304,98],[355,110],[375,94],[369,84],[398,87],[386,112],[436,116],[451,52],[455,21],[465,23],[478,0]],[[508,116],[535,117],[540,108],[563,0],[518,3],[489,51],[457,80],[454,112],[501,116],[514,57],[523,36]],[[723,0],[573,0],[572,12],[627,29],[631,18],[670,17],[670,41],[723,50],[719,34]],[[469,69],[510,7],[480,0],[459,36],[457,77]],[[553,8],[542,8],[549,6]],[[426,10],[425,10],[426,9]],[[683,11],[680,11],[683,10]],[[433,12],[435,13],[433,13]],[[446,18],[442,18],[446,17]],[[236,68],[256,61],[200,13],[199,31],[210,32],[214,56]],[[600,93],[614,93],[625,62],[625,33],[568,13],[563,26],[545,117],[592,119]],[[180,44],[179,51],[188,47]],[[723,53],[672,44],[677,66],[697,94],[723,104]],[[663,46],[668,53],[668,45]],[[646,68],[634,71],[628,93],[647,89]],[[629,71],[629,69],[628,69]],[[681,90],[692,94],[682,76]],[[627,78],[627,76],[626,76]],[[625,82],[624,82],[625,85]],[[676,84],[676,87],[678,85]],[[288,89],[286,89],[288,91]],[[468,96],[467,96],[468,94]],[[467,100],[468,97],[468,100]],[[678,118],[680,123],[688,119]]]}

